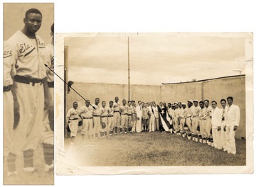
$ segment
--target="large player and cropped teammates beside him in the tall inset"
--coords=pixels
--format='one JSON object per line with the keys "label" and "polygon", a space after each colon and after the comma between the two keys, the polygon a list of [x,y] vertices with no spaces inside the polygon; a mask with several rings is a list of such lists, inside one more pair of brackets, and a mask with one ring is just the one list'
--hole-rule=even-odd
{"label": "large player and cropped teammates beside him in the tall inset", "polygon": [[[46,45],[36,32],[42,13],[26,11],[24,27],[4,41],[4,160],[8,176],[16,176],[17,154],[23,152],[23,171],[34,172],[34,151],[42,143],[45,171],[54,158],[54,25]],[[50,68],[48,69],[46,65]]]}

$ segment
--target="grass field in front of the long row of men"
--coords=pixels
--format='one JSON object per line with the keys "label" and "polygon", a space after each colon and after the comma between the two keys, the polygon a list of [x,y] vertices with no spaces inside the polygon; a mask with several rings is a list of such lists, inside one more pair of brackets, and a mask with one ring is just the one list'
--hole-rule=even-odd
{"label": "grass field in front of the long row of men", "polygon": [[207,144],[161,132],[113,135],[75,144],[65,139],[65,150],[77,166],[242,166],[246,164],[245,140],[236,140],[237,154]]}

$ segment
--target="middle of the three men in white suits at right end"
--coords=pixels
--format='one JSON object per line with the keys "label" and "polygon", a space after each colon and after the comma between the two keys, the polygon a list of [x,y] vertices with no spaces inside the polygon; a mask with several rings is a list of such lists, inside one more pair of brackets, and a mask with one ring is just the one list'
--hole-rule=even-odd
{"label": "middle of the three men in white suits at right end", "polygon": [[227,139],[226,139],[226,131],[224,130],[224,128],[226,129],[226,126],[225,126],[225,118],[226,118],[226,115],[227,115],[227,101],[225,100],[225,98],[222,98],[220,100],[220,104],[223,108],[221,108],[221,142],[222,142],[222,146],[223,146],[223,151],[224,152],[227,152],[228,149],[227,149]]}

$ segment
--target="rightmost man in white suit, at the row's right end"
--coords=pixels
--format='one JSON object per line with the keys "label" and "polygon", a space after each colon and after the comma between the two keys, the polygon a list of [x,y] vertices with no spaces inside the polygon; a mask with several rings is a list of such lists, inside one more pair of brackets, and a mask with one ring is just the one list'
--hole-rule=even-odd
{"label": "rightmost man in white suit, at the row's right end", "polygon": [[228,108],[225,118],[226,137],[227,137],[227,150],[230,154],[236,154],[235,148],[235,131],[238,129],[240,121],[240,108],[233,104],[233,97],[227,98]]}

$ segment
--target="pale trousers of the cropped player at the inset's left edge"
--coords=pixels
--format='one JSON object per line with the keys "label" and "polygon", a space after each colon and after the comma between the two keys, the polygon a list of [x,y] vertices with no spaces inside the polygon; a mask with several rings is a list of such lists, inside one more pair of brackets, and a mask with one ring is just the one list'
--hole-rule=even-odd
{"label": "pale trousers of the cropped player at the inset's left edge", "polygon": [[14,127],[14,97],[11,91],[4,91],[4,157],[7,157],[11,147],[11,135]]}

